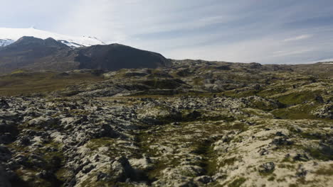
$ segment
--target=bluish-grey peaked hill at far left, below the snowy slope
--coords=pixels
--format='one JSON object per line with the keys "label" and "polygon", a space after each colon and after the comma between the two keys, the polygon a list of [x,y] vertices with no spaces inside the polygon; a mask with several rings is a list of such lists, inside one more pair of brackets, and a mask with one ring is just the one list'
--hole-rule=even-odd
{"label": "bluish-grey peaked hill at far left, below the snowy slope", "polygon": [[11,45],[0,48],[0,73],[10,73],[15,69],[67,70],[71,49],[52,38],[42,40],[23,37]]}

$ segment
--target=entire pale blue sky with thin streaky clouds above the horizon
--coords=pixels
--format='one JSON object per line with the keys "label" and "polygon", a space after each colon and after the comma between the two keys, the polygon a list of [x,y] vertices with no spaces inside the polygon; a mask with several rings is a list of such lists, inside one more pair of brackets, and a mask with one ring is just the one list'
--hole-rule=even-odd
{"label": "entire pale blue sky with thin streaky clouds above the horizon", "polygon": [[173,59],[333,60],[332,0],[0,0],[0,27],[95,36]]}

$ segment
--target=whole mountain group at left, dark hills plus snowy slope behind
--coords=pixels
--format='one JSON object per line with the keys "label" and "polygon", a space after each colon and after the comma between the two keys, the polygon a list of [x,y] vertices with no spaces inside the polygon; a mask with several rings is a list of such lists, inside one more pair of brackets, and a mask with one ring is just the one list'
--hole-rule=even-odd
{"label": "whole mountain group at left, dark hills plus snowy slope behind", "polygon": [[[4,32],[4,30],[6,32]],[[14,29],[15,30],[15,29]],[[51,70],[57,72],[73,69],[103,69],[169,67],[171,62],[156,52],[138,50],[120,44],[105,45],[95,38],[66,38],[34,28],[16,30],[12,35],[29,35],[16,40],[15,37],[1,39],[0,74],[16,69]],[[2,33],[9,31],[0,28]],[[46,35],[55,36],[46,38]],[[82,40],[80,40],[82,39]],[[85,40],[87,39],[87,40]]]}

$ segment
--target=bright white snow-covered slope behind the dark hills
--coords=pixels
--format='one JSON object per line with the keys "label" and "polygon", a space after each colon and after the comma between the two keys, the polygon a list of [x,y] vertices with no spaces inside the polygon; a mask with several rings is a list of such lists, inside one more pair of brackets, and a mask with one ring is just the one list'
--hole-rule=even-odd
{"label": "bright white snow-covered slope behind the dark hills", "polygon": [[104,42],[95,37],[75,37],[60,35],[36,28],[0,28],[0,47],[9,45],[23,36],[33,36],[35,38],[53,38],[70,47],[84,47],[91,45],[105,45]]}

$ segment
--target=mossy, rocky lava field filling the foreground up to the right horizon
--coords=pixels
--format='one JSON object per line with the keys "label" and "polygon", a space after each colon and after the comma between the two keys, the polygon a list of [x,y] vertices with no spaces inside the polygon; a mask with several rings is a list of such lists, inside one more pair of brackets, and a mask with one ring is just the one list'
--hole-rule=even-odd
{"label": "mossy, rocky lava field filling the foreground up to the right horizon", "polygon": [[173,63],[1,97],[0,186],[332,184],[332,64]]}

